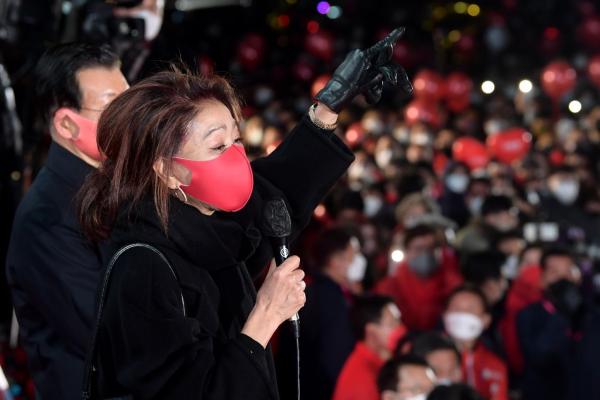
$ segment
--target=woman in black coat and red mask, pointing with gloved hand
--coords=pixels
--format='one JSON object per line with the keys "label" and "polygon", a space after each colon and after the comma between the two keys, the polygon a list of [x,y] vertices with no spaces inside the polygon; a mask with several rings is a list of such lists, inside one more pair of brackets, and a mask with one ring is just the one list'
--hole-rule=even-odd
{"label": "woman in black coat and red mask, pointing with gloved hand", "polygon": [[[218,76],[161,72],[104,111],[106,160],[80,193],[80,220],[105,240],[92,398],[278,399],[269,340],[305,302],[297,257],[253,285],[273,252],[265,204],[284,201],[291,236],[353,160],[333,134],[356,95],[411,89],[391,63],[395,30],[351,52],[268,157],[250,163],[241,112]],[[107,240],[106,240],[107,239]],[[93,361],[93,362],[92,362]],[[97,376],[96,376],[97,375]],[[87,388],[89,389],[89,388]]]}

